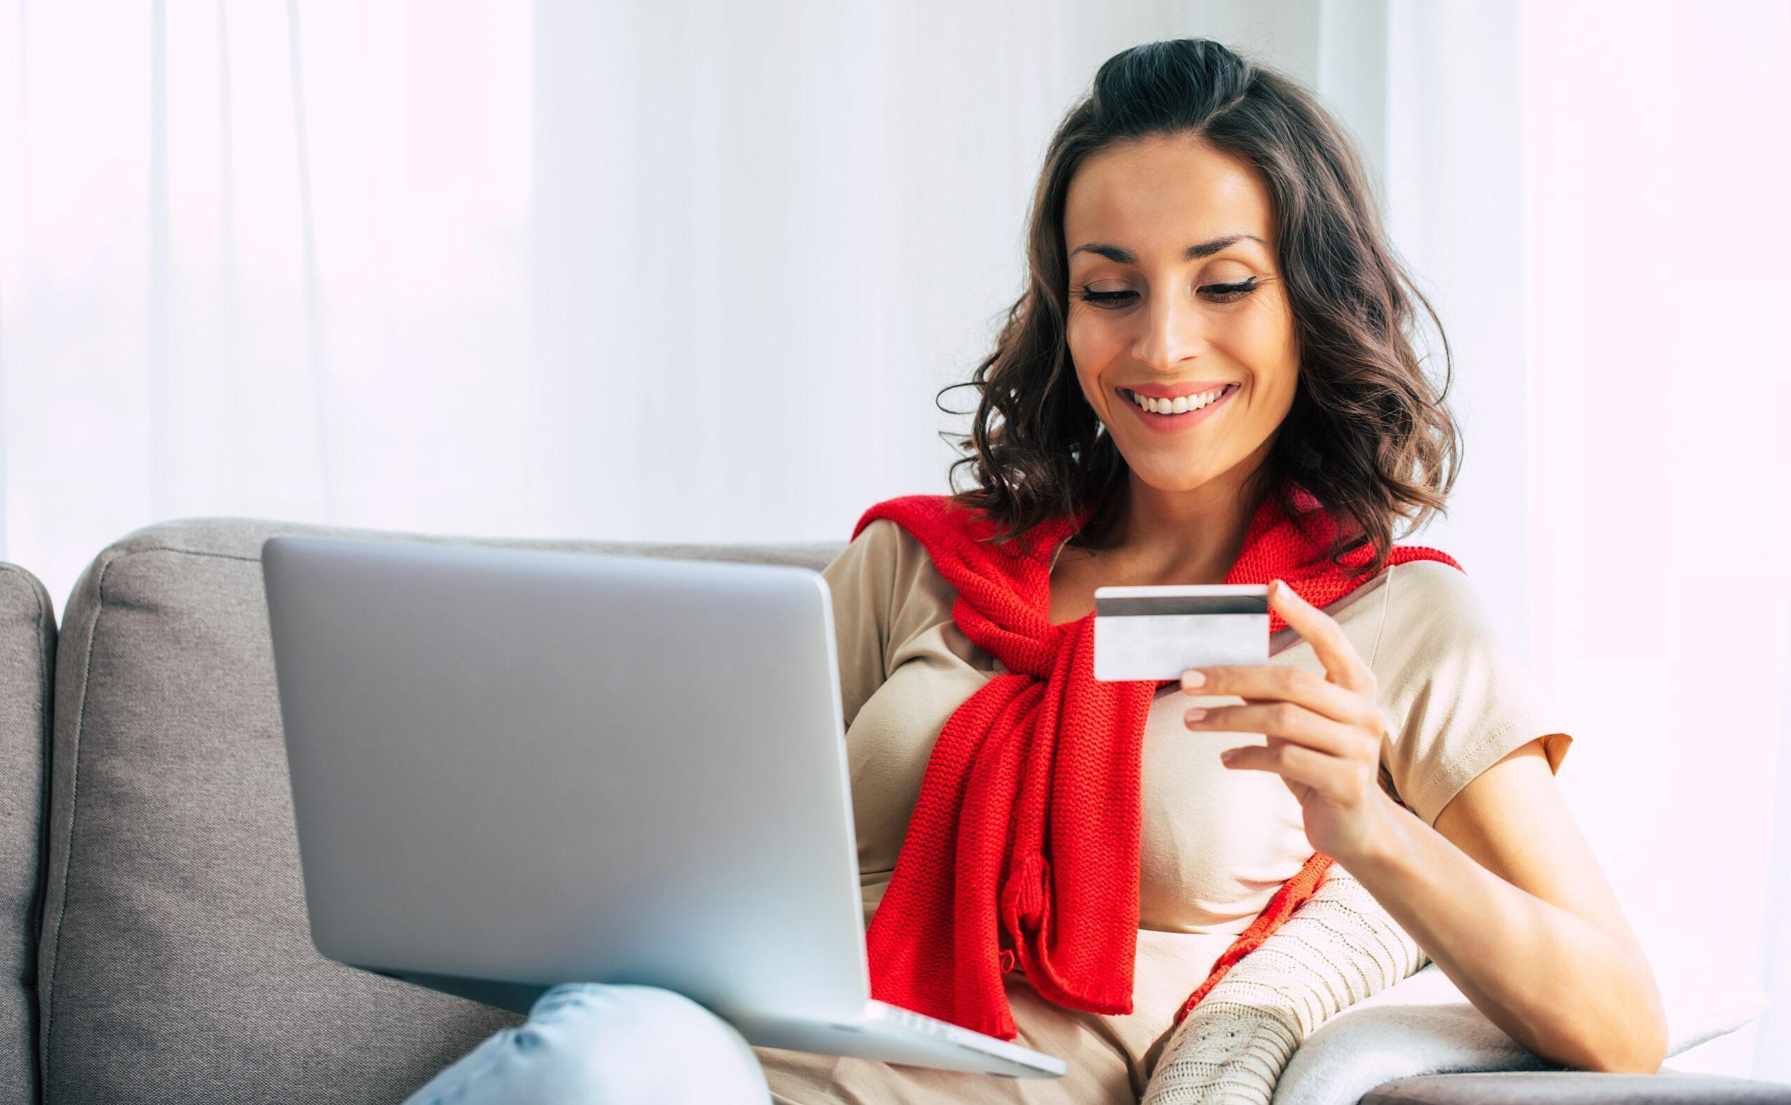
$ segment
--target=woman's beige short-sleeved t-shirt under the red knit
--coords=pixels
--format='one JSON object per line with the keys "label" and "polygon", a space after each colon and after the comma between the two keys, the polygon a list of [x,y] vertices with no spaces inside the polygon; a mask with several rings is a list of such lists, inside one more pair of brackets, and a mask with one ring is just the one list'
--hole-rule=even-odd
{"label": "woman's beige short-sleeved t-shirt under the red knit", "polygon": [[[833,595],[869,926],[938,731],[1005,668],[956,627],[956,591],[919,539],[894,521],[867,525],[822,577]],[[1368,661],[1393,722],[1381,749],[1381,784],[1426,824],[1470,779],[1538,736],[1549,767],[1560,770],[1572,738],[1558,731],[1555,711],[1497,639],[1470,577],[1436,561],[1393,564],[1325,612]],[[1272,634],[1268,650],[1272,664],[1325,673],[1293,629]],[[1182,724],[1189,706],[1239,702],[1184,695],[1177,686],[1159,690],[1152,702],[1139,772],[1134,1012],[1069,1010],[1039,998],[1019,969],[1007,974],[1015,1042],[1058,1055],[1067,1076],[1007,1080],[759,1048],[774,1098],[802,1105],[861,1098],[1135,1105],[1175,1010],[1315,851],[1300,804],[1279,775],[1220,763],[1223,749],[1264,743],[1261,732]]]}

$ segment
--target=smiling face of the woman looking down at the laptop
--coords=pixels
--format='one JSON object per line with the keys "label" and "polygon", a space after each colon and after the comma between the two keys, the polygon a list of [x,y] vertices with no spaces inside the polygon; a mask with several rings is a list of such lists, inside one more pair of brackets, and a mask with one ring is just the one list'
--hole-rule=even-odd
{"label": "smiling face of the woman looking down at the laptop", "polygon": [[[1132,476],[1193,491],[1254,473],[1300,362],[1257,172],[1186,136],[1109,147],[1069,181],[1064,245],[1069,356]],[[1216,389],[1216,403],[1184,414],[1132,399]]]}

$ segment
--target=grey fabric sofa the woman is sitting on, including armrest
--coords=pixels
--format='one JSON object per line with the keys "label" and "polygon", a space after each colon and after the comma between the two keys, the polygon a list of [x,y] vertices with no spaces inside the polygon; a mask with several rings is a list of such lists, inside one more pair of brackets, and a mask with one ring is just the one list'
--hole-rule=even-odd
{"label": "grey fabric sofa the woman is sitting on, including armrest", "polygon": [[[102,550],[57,630],[0,564],[0,1101],[398,1101],[518,1015],[319,958],[274,690],[272,534],[822,568],[767,546],[448,537],[201,518]],[[1445,1075],[1365,1101],[1768,1101],[1678,1075]]]}

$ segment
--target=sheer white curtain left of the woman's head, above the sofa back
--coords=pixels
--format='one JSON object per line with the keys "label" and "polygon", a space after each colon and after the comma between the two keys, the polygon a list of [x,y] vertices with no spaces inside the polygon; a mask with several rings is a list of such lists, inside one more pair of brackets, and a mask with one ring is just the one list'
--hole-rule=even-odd
{"label": "sheer white curtain left of the woman's head, above the sofa back", "polygon": [[5,5],[0,555],[61,605],[181,516],[844,541],[944,491],[1100,61],[1309,79],[1315,9]]}

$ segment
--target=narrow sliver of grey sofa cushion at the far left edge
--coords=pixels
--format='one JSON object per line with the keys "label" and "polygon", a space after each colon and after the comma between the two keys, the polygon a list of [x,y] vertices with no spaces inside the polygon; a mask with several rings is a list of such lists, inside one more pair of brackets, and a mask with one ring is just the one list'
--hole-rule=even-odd
{"label": "narrow sliver of grey sofa cushion at the far left edge", "polygon": [[38,906],[56,607],[32,573],[0,564],[0,1101],[38,1098]]}

